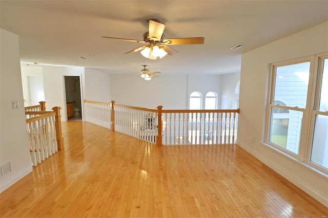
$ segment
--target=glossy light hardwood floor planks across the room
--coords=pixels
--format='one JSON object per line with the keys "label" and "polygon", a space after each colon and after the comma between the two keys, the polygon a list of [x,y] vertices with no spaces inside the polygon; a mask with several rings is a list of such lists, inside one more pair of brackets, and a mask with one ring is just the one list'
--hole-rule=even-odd
{"label": "glossy light hardwood floor planks across the room", "polygon": [[235,145],[155,146],[64,122],[65,148],[0,194],[1,217],[323,217]]}

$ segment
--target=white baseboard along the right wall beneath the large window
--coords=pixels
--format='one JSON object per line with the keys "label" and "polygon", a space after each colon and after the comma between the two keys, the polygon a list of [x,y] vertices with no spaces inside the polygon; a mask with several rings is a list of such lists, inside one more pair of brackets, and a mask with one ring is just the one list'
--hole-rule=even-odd
{"label": "white baseboard along the right wall beneath the large window", "polygon": [[237,141],[236,144],[242,149],[244,149],[245,151],[247,151],[249,154],[254,156],[256,159],[258,159],[259,161],[261,161],[262,163],[264,163],[265,165],[269,166],[271,169],[279,173],[279,175],[281,175],[282,177],[284,177],[285,179],[287,179],[288,181],[290,181],[291,183],[293,183],[294,185],[296,185],[297,187],[308,193],[311,197],[316,199],[318,202],[328,207],[328,199],[325,196],[323,196],[321,193],[317,192],[312,187],[300,181],[290,172],[277,166],[274,162],[264,158],[261,154],[259,154],[257,151],[253,150],[249,146],[245,145],[244,143]]}

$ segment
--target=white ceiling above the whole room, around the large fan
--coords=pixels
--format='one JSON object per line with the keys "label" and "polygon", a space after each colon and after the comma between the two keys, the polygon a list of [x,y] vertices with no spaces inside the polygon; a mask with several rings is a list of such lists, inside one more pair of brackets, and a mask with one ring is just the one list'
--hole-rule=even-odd
{"label": "white ceiling above the whole room, around the large fan", "polygon": [[[144,64],[166,74],[239,72],[242,53],[328,20],[327,0],[1,0],[0,4],[1,28],[19,35],[22,62],[109,73],[138,73]],[[150,18],[166,24],[167,38],[204,37],[204,44],[172,46],[178,54],[150,60],[140,52],[125,54],[140,43],[101,39],[142,39]],[[243,47],[230,49],[238,44]]]}

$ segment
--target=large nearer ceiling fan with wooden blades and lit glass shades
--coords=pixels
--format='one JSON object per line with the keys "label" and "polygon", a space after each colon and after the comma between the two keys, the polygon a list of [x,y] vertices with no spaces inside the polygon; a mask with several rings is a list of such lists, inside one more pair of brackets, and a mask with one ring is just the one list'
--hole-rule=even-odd
{"label": "large nearer ceiling fan with wooden blades and lit glass shades", "polygon": [[144,33],[142,36],[143,40],[137,39],[126,39],[126,38],[114,38],[103,36],[103,39],[117,39],[123,41],[132,41],[132,42],[139,42],[144,43],[147,45],[140,46],[132,51],[127,52],[126,54],[141,51],[141,55],[155,60],[158,57],[162,58],[165,55],[174,55],[178,53],[178,51],[172,49],[170,46],[173,45],[195,45],[195,44],[203,44],[204,37],[194,37],[194,38],[165,38],[163,32],[165,29],[165,24],[159,22],[158,19],[149,19],[149,31]]}

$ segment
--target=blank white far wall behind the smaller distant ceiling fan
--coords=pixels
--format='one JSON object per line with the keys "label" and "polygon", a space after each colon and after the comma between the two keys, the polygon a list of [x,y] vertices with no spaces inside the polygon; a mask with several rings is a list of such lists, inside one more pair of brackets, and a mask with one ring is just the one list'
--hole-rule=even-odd
{"label": "blank white far wall behind the smaller distant ceiling fan", "polygon": [[111,74],[111,100],[117,104],[164,109],[187,108],[187,75],[165,75],[146,81],[139,74]]}

